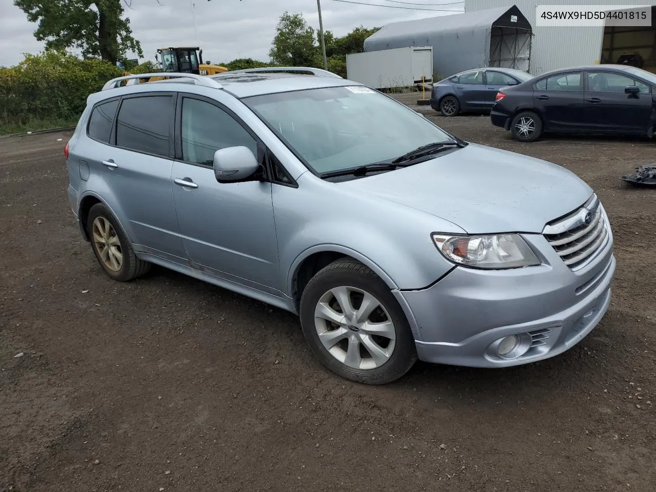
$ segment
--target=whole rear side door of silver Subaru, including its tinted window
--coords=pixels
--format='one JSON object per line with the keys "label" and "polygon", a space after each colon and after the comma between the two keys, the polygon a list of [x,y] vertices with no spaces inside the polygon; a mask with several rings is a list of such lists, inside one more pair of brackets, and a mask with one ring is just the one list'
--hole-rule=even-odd
{"label": "whole rear side door of silver Subaru, including its tinted window", "polygon": [[134,250],[184,263],[173,207],[176,95],[148,92],[121,99],[110,142],[93,165],[100,194],[123,224]]}

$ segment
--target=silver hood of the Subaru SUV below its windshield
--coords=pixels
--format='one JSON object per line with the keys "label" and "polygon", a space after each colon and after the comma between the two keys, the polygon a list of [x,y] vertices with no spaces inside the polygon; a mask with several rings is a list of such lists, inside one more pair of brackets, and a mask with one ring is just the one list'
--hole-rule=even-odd
{"label": "silver hood of the Subaru SUV below its windshield", "polygon": [[592,194],[564,167],[477,144],[340,186],[438,216],[469,234],[539,234]]}

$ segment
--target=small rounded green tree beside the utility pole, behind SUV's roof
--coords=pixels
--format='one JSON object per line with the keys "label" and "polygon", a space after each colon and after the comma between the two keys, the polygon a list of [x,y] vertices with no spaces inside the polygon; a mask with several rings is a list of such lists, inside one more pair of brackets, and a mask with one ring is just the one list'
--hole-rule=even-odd
{"label": "small rounded green tree beside the utility pole, behind SUV's roof", "polygon": [[276,26],[276,37],[269,51],[271,61],[282,66],[314,66],[319,51],[314,29],[303,14],[285,11]]}

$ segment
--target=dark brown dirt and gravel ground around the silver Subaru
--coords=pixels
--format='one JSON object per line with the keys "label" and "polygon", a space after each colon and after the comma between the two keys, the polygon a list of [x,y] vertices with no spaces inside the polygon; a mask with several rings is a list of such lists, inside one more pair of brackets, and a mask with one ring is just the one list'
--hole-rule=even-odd
{"label": "dark brown dirt and gravel ground around the silver Subaru", "polygon": [[617,276],[583,342],[350,383],[290,314],[162,269],[108,279],[66,199],[70,133],[0,139],[0,491],[656,490],[656,190],[619,180],[656,143],[518,144],[489,117],[418,108],[600,195]]}

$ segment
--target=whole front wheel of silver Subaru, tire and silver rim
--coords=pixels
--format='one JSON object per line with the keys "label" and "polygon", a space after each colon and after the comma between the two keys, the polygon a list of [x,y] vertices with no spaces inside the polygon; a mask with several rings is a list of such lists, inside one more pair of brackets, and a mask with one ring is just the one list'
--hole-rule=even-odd
{"label": "whole front wheel of silver Subaru, tire and silver rim", "polygon": [[321,363],[346,379],[386,384],[417,360],[401,306],[380,277],[356,260],[336,260],[310,279],[300,323]]}

